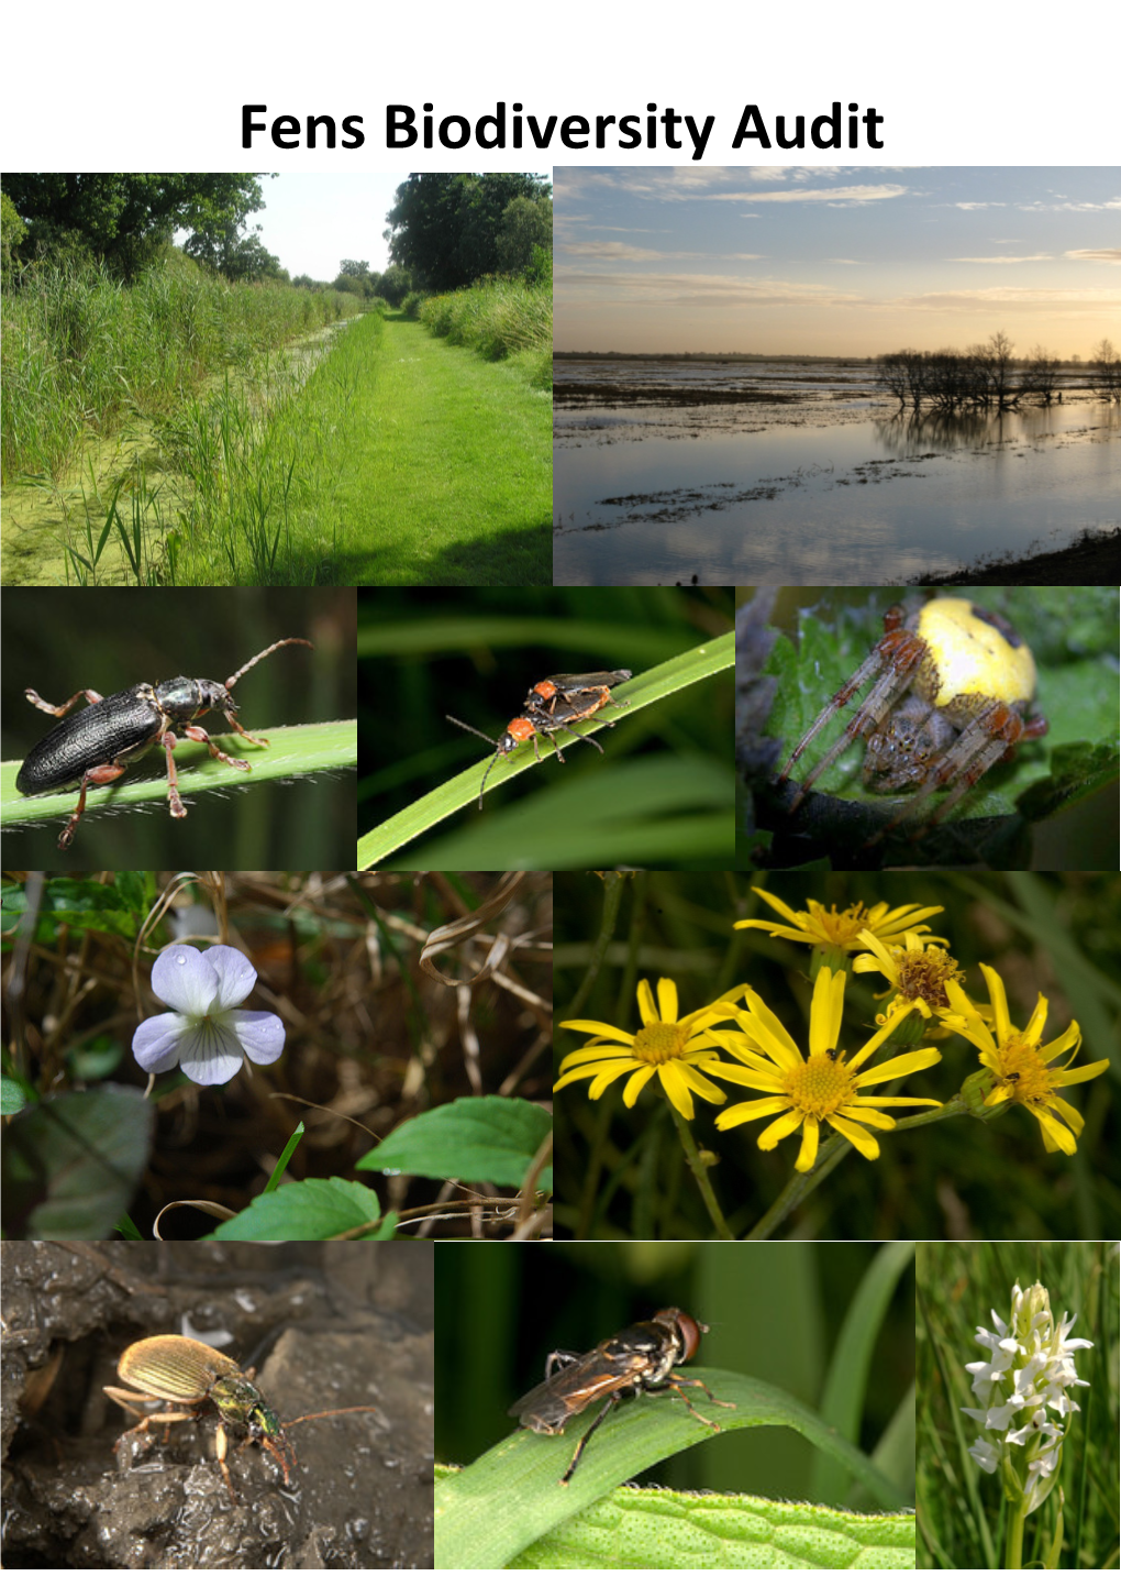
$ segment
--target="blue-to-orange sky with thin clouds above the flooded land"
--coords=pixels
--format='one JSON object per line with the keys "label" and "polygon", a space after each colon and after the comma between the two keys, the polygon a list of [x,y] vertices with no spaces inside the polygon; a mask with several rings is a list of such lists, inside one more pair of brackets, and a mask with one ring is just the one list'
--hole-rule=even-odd
{"label": "blue-to-orange sky with thin clouds above the flooded land", "polygon": [[1121,344],[1121,168],[557,167],[553,343]]}

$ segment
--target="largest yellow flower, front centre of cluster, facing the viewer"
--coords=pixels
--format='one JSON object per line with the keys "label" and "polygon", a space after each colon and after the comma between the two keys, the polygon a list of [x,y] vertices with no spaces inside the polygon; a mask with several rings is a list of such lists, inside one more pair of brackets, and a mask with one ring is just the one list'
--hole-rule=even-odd
{"label": "largest yellow flower, front centre of cluster, facing the viewer", "polygon": [[[828,966],[823,966],[813,982],[807,1057],[802,1057],[794,1038],[761,997],[747,987],[744,998],[750,1013],[739,1013],[737,1020],[747,1041],[742,1049],[733,1049],[740,1062],[714,1063],[709,1066],[709,1073],[772,1095],[761,1101],[739,1101],[726,1108],[717,1114],[718,1130],[731,1130],[737,1124],[766,1119],[777,1112],[779,1117],[759,1136],[759,1147],[769,1152],[779,1141],[801,1128],[802,1149],[794,1166],[799,1173],[807,1173],[817,1160],[821,1124],[831,1124],[858,1152],[875,1159],[880,1155],[880,1143],[870,1132],[894,1130],[896,1127],[894,1119],[878,1109],[942,1106],[932,1097],[864,1098],[859,1095],[866,1086],[877,1086],[880,1081],[891,1081],[899,1074],[929,1068],[939,1062],[939,1052],[935,1047],[901,1052],[899,1057],[859,1073],[861,1065],[907,1017],[909,1009],[904,1008],[893,1014],[853,1059],[845,1062],[845,1054],[837,1051],[840,1019],[845,1009],[844,971],[834,974]],[[759,1052],[752,1052],[748,1044],[758,1046]]]}

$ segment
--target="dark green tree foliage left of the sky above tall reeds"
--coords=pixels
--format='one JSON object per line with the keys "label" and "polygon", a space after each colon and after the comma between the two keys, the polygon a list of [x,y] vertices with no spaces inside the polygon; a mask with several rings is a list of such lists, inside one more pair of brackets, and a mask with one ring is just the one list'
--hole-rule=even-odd
{"label": "dark green tree foliage left of the sky above tall reeds", "polygon": [[27,222],[21,259],[49,257],[60,240],[76,238],[125,279],[176,230],[190,233],[189,254],[222,268],[246,219],[265,203],[260,181],[247,173],[10,175],[3,192]]}

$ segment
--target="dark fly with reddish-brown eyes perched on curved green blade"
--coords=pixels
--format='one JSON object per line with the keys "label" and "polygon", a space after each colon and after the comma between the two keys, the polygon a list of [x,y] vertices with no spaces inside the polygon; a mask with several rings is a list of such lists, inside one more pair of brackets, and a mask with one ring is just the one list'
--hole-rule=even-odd
{"label": "dark fly with reddish-brown eyes perched on curved green blade", "polygon": [[682,1378],[674,1371],[674,1366],[690,1360],[701,1343],[701,1335],[707,1331],[702,1322],[696,1322],[679,1306],[666,1306],[653,1322],[634,1322],[629,1328],[620,1328],[583,1355],[576,1351],[553,1351],[545,1362],[545,1381],[512,1404],[507,1416],[517,1416],[522,1427],[528,1427],[531,1433],[563,1433],[574,1416],[598,1400],[604,1401],[599,1416],[576,1446],[561,1484],[568,1484],[588,1439],[610,1408],[625,1397],[671,1389],[682,1397],[698,1422],[718,1433],[718,1425],[693,1408],[682,1384],[704,1389],[714,1404],[731,1409],[731,1401],[717,1400],[699,1378]]}

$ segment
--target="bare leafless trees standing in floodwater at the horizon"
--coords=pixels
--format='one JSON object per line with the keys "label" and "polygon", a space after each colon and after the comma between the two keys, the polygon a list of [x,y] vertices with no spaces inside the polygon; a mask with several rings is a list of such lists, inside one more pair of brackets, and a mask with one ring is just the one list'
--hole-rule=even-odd
{"label": "bare leafless trees standing in floodwater at the horizon", "polygon": [[[1105,402],[1121,402],[1121,357],[1107,340],[1091,354],[1094,392]],[[899,406],[918,411],[924,403],[937,413],[962,408],[1015,408],[1024,400],[1050,405],[1062,402],[1062,360],[1045,348],[1032,348],[1026,359],[1013,357],[1013,343],[994,332],[986,343],[958,352],[904,348],[877,359],[877,378]]]}

